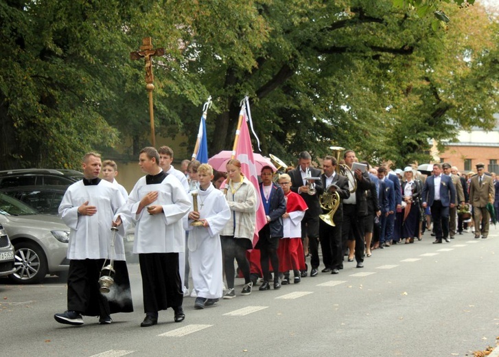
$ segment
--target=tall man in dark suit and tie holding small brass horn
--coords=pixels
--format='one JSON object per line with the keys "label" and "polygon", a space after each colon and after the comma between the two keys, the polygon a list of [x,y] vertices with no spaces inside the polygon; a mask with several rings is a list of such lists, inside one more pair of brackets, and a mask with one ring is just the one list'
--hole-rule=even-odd
{"label": "tall man in dark suit and tie holding small brass horn", "polygon": [[[321,205],[318,203],[318,196],[324,193],[324,188],[321,180],[305,179],[307,173],[311,177],[321,176],[321,170],[310,167],[311,161],[312,157],[307,151],[300,152],[297,168],[288,172],[288,175],[291,177],[291,191],[300,194],[308,207],[307,211],[305,211],[305,217],[301,220],[301,238],[304,240],[303,246],[307,244],[305,238],[308,237],[309,239],[310,265],[312,266],[310,276],[315,277],[318,274],[317,268],[320,264],[318,258],[318,215],[322,213]],[[315,192],[312,194],[310,189],[314,189]],[[302,277],[307,276],[306,271],[301,273]]]}

